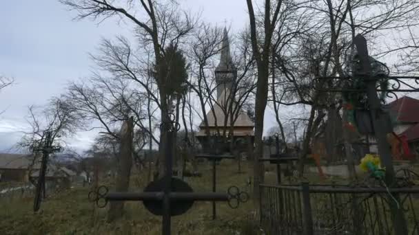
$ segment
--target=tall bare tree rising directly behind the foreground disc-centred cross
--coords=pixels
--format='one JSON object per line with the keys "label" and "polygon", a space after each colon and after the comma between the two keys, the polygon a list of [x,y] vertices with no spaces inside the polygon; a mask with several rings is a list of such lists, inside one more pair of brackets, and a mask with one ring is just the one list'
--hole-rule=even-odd
{"label": "tall bare tree rising directly behind the foreground disc-centred cross", "polygon": [[[91,17],[92,19],[106,19],[111,16],[119,16],[128,19],[136,25],[137,35],[145,47],[152,47],[154,62],[160,66],[165,60],[165,47],[167,45],[178,45],[189,34],[196,21],[192,17],[179,11],[176,1],[157,2],[141,0],[139,3],[126,1],[125,4],[105,0],[62,0],[65,5],[78,12],[79,18]],[[136,9],[136,10],[134,10]],[[156,71],[156,85],[159,89],[159,108],[161,110],[162,122],[170,122],[169,100],[165,87],[170,86],[168,77],[161,71]],[[160,153],[161,164],[159,171],[164,170],[166,131],[161,132]]]}

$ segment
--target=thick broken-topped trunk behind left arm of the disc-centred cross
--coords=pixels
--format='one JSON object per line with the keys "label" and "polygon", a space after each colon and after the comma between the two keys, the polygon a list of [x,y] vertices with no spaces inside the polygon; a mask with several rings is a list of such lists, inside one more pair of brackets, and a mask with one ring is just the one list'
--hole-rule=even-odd
{"label": "thick broken-topped trunk behind left arm of the disc-centred cross", "polygon": [[[118,175],[116,176],[116,192],[127,192],[130,187],[130,175],[132,168],[132,133],[134,120],[131,117],[126,120],[121,128],[120,160]],[[108,222],[121,218],[123,214],[123,201],[111,201],[108,213]]]}

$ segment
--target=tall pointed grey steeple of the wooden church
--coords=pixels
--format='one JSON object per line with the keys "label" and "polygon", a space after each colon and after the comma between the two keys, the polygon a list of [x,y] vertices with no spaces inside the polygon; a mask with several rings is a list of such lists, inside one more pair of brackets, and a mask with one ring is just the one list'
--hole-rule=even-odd
{"label": "tall pointed grey steeple of the wooden church", "polygon": [[237,69],[232,60],[227,29],[224,28],[220,63],[218,63],[218,66],[215,69],[217,100],[223,92],[227,92],[227,90],[231,89],[232,82],[235,80],[236,74]]}

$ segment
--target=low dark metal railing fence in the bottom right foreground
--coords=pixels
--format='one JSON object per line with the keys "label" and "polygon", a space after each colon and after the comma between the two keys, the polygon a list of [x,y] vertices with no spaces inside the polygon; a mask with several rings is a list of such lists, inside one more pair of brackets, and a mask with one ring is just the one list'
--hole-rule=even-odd
{"label": "low dark metal railing fence in the bottom right foreground", "polygon": [[389,208],[396,198],[408,234],[419,235],[418,186],[260,185],[260,225],[267,234],[399,234]]}

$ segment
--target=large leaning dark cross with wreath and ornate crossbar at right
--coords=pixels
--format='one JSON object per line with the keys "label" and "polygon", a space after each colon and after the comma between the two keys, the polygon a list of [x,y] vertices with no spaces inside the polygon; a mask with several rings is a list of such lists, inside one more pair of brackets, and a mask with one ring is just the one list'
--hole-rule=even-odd
{"label": "large leaning dark cross with wreath and ornate crossbar at right", "polygon": [[[419,92],[419,88],[416,86],[419,84],[419,77],[417,76],[389,76],[389,71],[386,73],[381,73],[381,69],[374,69],[377,65],[378,68],[384,66],[384,64],[374,60],[368,54],[367,40],[364,36],[358,34],[354,40],[353,44],[356,46],[356,57],[354,56],[354,61],[351,64],[353,67],[353,72],[346,76],[338,77],[323,77],[316,78],[317,80],[329,80],[329,83],[332,84],[333,80],[345,81],[346,84],[359,84],[362,82],[360,87],[332,87],[331,89],[319,89],[319,91],[324,92],[342,92],[342,93],[358,93],[362,96],[366,95],[366,99],[362,100],[363,105],[365,105],[365,111],[367,111],[367,120],[371,122],[372,128],[368,130],[367,128],[364,132],[368,134],[374,134],[376,137],[378,154],[380,155],[381,163],[385,167],[385,183],[388,186],[394,185],[396,183],[396,173],[394,171],[393,160],[391,157],[390,146],[387,142],[387,133],[391,133],[392,127],[389,119],[389,113],[382,109],[382,100],[377,95],[377,92],[385,92],[387,96],[389,94],[397,98],[396,92]],[[374,65],[374,67],[373,67]],[[385,67],[385,66],[384,66]],[[374,71],[377,70],[377,71]],[[391,87],[382,89],[380,83],[382,82],[392,82]],[[340,83],[340,82],[338,82]],[[379,83],[379,85],[377,85]],[[414,84],[416,83],[416,85]],[[391,96],[389,96],[391,97]],[[353,107],[357,111],[360,107]],[[355,124],[358,120],[354,121]],[[358,128],[360,125],[356,124]],[[361,127],[365,128],[365,126]],[[362,131],[362,128],[360,130]],[[389,199],[389,209],[391,211],[394,225],[394,231],[396,234],[407,234],[407,225],[405,217],[403,216],[402,208],[398,207],[397,201],[399,201],[398,195],[394,195],[393,199]]]}

